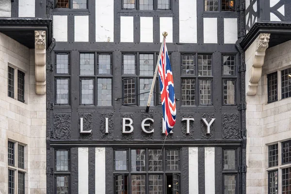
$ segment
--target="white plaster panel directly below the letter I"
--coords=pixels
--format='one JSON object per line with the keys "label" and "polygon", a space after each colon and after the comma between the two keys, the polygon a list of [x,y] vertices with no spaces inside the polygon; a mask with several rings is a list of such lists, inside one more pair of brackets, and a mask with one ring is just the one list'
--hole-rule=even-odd
{"label": "white plaster panel directly below the letter I", "polygon": [[95,191],[98,191],[98,194],[106,194],[105,147],[95,148]]}

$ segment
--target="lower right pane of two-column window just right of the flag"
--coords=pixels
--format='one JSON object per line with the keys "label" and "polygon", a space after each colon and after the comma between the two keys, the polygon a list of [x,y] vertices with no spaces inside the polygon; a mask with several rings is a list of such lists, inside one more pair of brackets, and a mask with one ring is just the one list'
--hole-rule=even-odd
{"label": "lower right pane of two-column window just right of the flag", "polygon": [[211,81],[199,80],[200,105],[211,105]]}

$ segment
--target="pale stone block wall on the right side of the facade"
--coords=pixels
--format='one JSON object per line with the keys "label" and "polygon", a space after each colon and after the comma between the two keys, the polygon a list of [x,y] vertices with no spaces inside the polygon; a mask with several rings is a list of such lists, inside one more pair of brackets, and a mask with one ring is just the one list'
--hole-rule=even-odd
{"label": "pale stone block wall on the right side of the facade", "polygon": [[[250,73],[248,69],[252,66],[254,47],[256,41],[245,52],[246,74]],[[268,193],[267,145],[291,138],[291,97],[280,99],[278,95],[278,101],[267,103],[267,74],[278,71],[279,78],[280,71],[290,66],[291,41],[267,49],[258,92],[255,96],[246,95],[247,194]],[[246,75],[246,82],[248,82],[247,77]],[[278,90],[280,89],[280,81],[278,81]]]}

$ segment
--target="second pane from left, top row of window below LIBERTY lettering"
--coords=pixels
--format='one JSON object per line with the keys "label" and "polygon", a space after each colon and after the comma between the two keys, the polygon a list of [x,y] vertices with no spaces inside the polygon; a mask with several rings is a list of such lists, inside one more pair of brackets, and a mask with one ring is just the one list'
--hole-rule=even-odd
{"label": "second pane from left, top row of window below LIBERTY lettering", "polygon": [[146,171],[146,150],[131,149],[131,171]]}

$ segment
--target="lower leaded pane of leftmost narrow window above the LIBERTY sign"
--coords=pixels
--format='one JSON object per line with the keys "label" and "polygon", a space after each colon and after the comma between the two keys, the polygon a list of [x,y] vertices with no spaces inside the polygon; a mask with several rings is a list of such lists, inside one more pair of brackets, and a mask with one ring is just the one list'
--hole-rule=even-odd
{"label": "lower leaded pane of leftmost narrow window above the LIBERTY sign", "polygon": [[56,91],[56,103],[68,104],[69,101],[69,80],[68,79],[56,79],[57,91]]}

